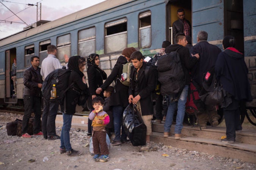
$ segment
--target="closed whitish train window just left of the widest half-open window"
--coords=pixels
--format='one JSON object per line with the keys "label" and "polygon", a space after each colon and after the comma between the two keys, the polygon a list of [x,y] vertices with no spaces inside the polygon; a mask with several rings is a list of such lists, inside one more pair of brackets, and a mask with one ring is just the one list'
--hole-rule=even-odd
{"label": "closed whitish train window just left of the widest half-open window", "polygon": [[87,57],[96,51],[95,27],[78,32],[78,55]]}

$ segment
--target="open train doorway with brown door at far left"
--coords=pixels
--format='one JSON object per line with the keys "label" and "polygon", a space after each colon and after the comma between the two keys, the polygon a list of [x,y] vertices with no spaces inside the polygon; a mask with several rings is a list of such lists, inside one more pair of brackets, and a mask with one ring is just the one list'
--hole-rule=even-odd
{"label": "open train doorway with brown door at far left", "polygon": [[[16,60],[16,48],[12,48],[5,51],[5,99],[14,98],[14,79],[12,79],[12,66],[14,63],[14,59]],[[16,62],[19,62],[16,60]],[[17,64],[16,64],[17,66]],[[16,73],[14,73],[16,76]],[[9,100],[6,100],[8,102]]]}

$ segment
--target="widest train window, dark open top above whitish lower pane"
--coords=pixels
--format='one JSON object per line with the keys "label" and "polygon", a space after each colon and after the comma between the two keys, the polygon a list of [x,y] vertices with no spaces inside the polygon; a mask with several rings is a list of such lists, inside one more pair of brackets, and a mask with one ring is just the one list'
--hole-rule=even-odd
{"label": "widest train window, dark open top above whitish lower pane", "polygon": [[105,24],[105,53],[122,51],[127,47],[127,19]]}

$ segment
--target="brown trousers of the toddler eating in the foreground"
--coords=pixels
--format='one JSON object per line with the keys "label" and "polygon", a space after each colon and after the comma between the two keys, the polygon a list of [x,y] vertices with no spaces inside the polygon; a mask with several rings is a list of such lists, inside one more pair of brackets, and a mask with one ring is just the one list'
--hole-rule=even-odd
{"label": "brown trousers of the toddler eating in the foreground", "polygon": [[[100,148],[101,146],[101,148]],[[93,131],[93,153],[108,155],[108,145],[106,142],[106,131]]]}

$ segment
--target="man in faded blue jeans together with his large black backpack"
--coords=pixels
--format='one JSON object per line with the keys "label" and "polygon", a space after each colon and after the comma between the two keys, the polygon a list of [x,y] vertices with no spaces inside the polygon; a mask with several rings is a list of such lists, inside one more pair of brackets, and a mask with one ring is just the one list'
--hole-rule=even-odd
{"label": "man in faded blue jeans together with his large black backpack", "polygon": [[[164,137],[168,137],[170,135],[170,128],[173,122],[173,116],[175,111],[177,110],[177,117],[176,117],[176,125],[174,130],[174,137],[175,139],[180,139],[184,136],[184,134],[181,134],[181,130],[183,127],[183,119],[185,115],[185,103],[187,102],[187,94],[188,94],[188,85],[190,84],[190,74],[189,71],[193,66],[197,63],[199,56],[195,55],[193,57],[190,57],[190,53],[188,48],[185,46],[187,45],[186,36],[184,33],[179,33],[176,36],[176,44],[167,46],[165,48],[165,55],[174,55],[174,59],[177,59],[176,61],[171,61],[174,64],[174,68],[170,68],[170,70],[173,72],[172,77],[161,77],[161,73],[159,72],[159,81],[161,79],[170,79],[170,83],[165,84],[161,87],[161,93],[166,92],[169,96],[169,106],[168,111],[166,115],[166,121],[164,124]],[[170,54],[169,54],[170,53]],[[171,56],[170,56],[171,57]],[[168,57],[167,57],[168,58]],[[161,58],[162,60],[162,58]],[[165,61],[158,60],[158,68],[157,70],[161,70],[166,63]],[[182,70],[179,71],[179,63],[181,63]],[[166,63],[167,65],[170,65],[169,63]],[[179,77],[179,75],[182,75],[180,72],[183,71],[183,77]],[[168,70],[167,70],[168,72]],[[183,87],[180,88],[183,81]],[[164,81],[162,81],[164,82]],[[160,81],[160,83],[162,83]],[[168,86],[169,85],[169,86]],[[178,88],[174,88],[177,86]],[[166,88],[166,89],[162,89]],[[167,89],[168,88],[168,89]],[[168,91],[169,90],[169,91]],[[169,93],[169,94],[168,94]]]}

